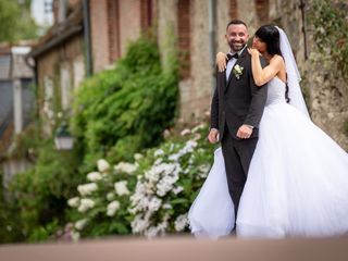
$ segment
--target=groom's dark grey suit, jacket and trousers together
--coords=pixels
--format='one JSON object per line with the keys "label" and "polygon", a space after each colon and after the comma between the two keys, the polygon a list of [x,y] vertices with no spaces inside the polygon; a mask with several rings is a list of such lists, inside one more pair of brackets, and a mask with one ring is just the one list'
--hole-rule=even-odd
{"label": "groom's dark grey suit, jacket and trousers together", "polygon": [[[264,60],[261,60],[261,63],[265,65]],[[251,72],[251,57],[247,48],[234,66],[237,64],[244,67],[239,78],[235,76],[233,70],[228,80],[226,80],[226,72],[216,73],[216,89],[211,104],[211,128],[219,129],[228,189],[236,215],[258,141],[258,127],[268,92],[266,86],[260,88],[254,84]],[[243,124],[254,127],[251,137],[248,139],[240,139],[236,136]]]}

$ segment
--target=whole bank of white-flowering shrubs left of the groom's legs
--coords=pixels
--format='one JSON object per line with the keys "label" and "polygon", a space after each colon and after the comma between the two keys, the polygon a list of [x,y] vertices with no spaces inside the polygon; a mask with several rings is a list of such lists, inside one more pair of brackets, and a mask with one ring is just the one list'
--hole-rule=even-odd
{"label": "whole bank of white-flowering shrubs left of the groom's legs", "polygon": [[[99,167],[89,173],[89,183],[77,187],[79,196],[69,200],[73,237],[126,233],[153,237],[187,231],[187,211],[213,157],[207,132],[199,125],[144,156],[136,154],[134,164],[104,163],[105,172]],[[120,194],[117,183],[127,192]]]}

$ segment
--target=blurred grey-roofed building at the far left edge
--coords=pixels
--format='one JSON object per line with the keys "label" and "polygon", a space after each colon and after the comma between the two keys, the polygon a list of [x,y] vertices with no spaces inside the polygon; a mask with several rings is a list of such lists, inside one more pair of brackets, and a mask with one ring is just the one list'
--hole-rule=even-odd
{"label": "blurred grey-roofed building at the far left edge", "polygon": [[29,42],[0,45],[0,160],[12,142],[33,120],[34,72],[26,63]]}

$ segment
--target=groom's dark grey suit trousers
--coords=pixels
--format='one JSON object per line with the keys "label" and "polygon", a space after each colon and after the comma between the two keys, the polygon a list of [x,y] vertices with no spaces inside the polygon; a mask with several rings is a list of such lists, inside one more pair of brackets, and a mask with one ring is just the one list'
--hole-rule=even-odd
{"label": "groom's dark grey suit trousers", "polygon": [[221,147],[225,161],[228,191],[235,207],[235,221],[237,221],[239,200],[257,142],[257,137],[249,139],[233,138],[227,124],[225,125]]}

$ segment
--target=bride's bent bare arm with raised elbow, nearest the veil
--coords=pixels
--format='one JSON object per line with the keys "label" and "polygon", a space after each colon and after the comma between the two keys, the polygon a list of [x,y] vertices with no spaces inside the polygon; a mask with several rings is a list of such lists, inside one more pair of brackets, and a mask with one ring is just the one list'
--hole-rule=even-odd
{"label": "bride's bent bare arm with raised elbow, nearest the veil", "polygon": [[257,49],[248,49],[251,54],[251,70],[253,80],[257,86],[262,86],[269,83],[279,72],[283,60],[279,55],[275,55],[271,59],[270,64],[262,69],[260,62],[260,52]]}

